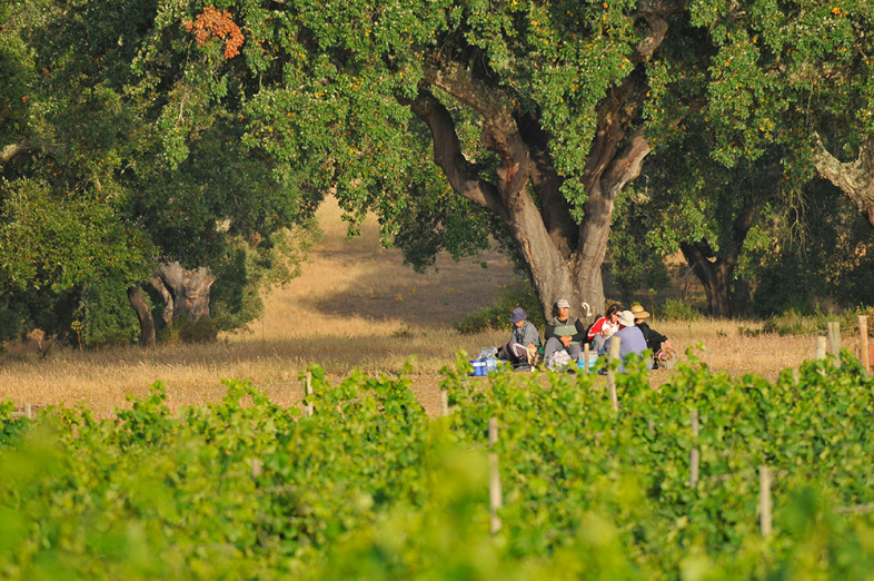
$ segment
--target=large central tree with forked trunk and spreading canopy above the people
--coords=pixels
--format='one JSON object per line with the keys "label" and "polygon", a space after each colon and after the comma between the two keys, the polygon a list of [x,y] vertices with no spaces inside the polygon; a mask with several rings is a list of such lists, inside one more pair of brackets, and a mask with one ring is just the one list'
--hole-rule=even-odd
{"label": "large central tree with forked trunk and spreading canopy above the people", "polygon": [[[217,8],[162,3],[143,67],[179,50],[172,39],[192,28],[187,22],[205,22],[209,33],[189,37],[187,50],[216,75],[197,86],[218,95],[241,81],[244,142],[262,147],[280,175],[334,189],[352,227],[375,211],[385,239],[423,265],[435,250],[481,248],[498,226],[545,309],[560,297],[600,308],[613,204],[649,151],[647,124],[662,119],[647,106],[664,68],[658,55],[694,53],[678,7],[305,0]],[[245,41],[240,56],[227,58],[230,36],[221,30],[231,24]]]}

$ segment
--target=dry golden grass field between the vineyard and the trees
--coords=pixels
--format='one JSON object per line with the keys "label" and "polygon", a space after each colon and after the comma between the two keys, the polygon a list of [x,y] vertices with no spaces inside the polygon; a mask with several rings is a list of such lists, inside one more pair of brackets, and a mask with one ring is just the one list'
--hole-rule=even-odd
{"label": "dry golden grass field between the vineyard and the trees", "polygon": [[[0,400],[40,406],[86,404],[98,415],[129,405],[166,382],[168,406],[203,404],[225,394],[222,378],[248,380],[280,405],[298,405],[300,373],[319,363],[334,380],[351,370],[394,374],[410,354],[418,361],[413,388],[426,410],[439,411],[439,371],[464,348],[506,341],[504,332],[460,335],[453,328],[464,315],[493,303],[503,285],[517,279],[509,263],[487,254],[459,263],[439,257],[437,269],[419,275],[403,265],[400,252],[379,247],[375,224],[347,242],[335,204],[320,210],[324,240],[311,252],[302,276],[266,299],[266,313],[247,333],[220,336],[210,345],[162,345],[153,349],[112,348],[80,353],[53,349],[39,357],[36,345],[10,348],[0,362]],[[488,267],[483,268],[481,263]],[[657,313],[656,313],[657,315]],[[814,337],[742,336],[749,321],[669,323],[652,326],[674,347],[702,343],[699,356],[715,371],[757,373],[773,380],[815,355]],[[542,329],[543,331],[543,329]],[[853,337],[844,338],[853,348]],[[653,372],[653,385],[671,372]]]}

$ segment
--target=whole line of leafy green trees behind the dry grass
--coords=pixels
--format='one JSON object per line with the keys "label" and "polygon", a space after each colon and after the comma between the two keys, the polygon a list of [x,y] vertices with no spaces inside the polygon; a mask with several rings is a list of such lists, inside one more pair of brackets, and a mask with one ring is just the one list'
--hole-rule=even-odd
{"label": "whole line of leafy green trees behind the dry grass", "polygon": [[856,223],[874,224],[865,0],[3,0],[0,16],[7,334],[85,317],[98,344],[106,315],[132,337],[121,293],[167,262],[209,267],[238,326],[328,193],[350,234],[375,213],[419,269],[497,243],[545,313],[600,311],[608,257],[633,293],[681,252],[732,315],[768,265],[827,250],[804,246],[820,221],[847,265],[824,292],[870,302],[846,290],[870,244]]}

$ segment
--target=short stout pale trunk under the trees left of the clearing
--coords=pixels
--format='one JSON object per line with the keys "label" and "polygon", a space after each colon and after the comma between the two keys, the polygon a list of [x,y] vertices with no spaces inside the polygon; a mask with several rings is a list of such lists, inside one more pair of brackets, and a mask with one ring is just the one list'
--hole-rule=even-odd
{"label": "short stout pale trunk under the trees left of the clearing", "polygon": [[163,309],[167,325],[172,326],[179,319],[209,318],[209,292],[215,282],[216,277],[207,267],[189,270],[178,262],[162,264],[151,284],[167,304]]}

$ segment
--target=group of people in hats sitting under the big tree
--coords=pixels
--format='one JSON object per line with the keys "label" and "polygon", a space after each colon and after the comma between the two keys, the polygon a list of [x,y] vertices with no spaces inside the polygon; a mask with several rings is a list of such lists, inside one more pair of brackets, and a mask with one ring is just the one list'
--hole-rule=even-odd
{"label": "group of people in hats sitting under the big tree", "polygon": [[[513,324],[510,338],[501,346],[501,351],[515,367],[527,368],[534,364],[540,347],[546,362],[552,361],[560,351],[566,352],[570,361],[576,362],[583,353],[583,345],[588,343],[589,352],[604,353],[609,349],[613,337],[620,339],[620,360],[629,353],[643,355],[649,349],[652,354],[656,354],[663,347],[673,348],[665,335],[647,325],[648,316],[649,313],[639,305],[625,311],[622,305],[614,303],[604,316],[597,317],[590,327],[586,327],[583,319],[570,316],[570,303],[563,298],[556,302],[554,317],[546,324],[544,345],[540,343],[537,327],[528,321],[525,309],[516,307],[510,314]],[[652,356],[649,365],[653,365]]]}

